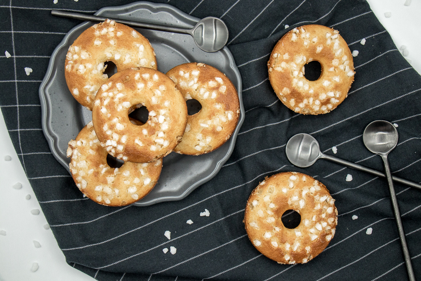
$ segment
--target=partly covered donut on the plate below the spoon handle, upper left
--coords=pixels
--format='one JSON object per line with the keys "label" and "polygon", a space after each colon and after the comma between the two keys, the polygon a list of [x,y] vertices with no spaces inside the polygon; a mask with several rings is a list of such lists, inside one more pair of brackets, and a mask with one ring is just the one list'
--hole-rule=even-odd
{"label": "partly covered donut on the plate below the spoon handle, upper left", "polygon": [[117,71],[131,67],[157,69],[154,49],[142,34],[113,20],[86,29],[69,47],[64,76],[73,97],[92,111],[95,95],[107,79],[106,61]]}

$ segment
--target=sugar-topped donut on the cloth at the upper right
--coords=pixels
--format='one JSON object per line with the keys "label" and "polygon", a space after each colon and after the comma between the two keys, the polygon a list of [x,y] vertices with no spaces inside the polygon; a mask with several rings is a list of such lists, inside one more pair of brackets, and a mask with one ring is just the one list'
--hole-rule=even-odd
{"label": "sugar-topped donut on the cloth at the upper right", "polygon": [[[316,81],[304,77],[304,65],[316,60],[321,74]],[[289,31],[275,45],[267,63],[269,80],[278,98],[290,110],[323,114],[347,97],[354,81],[351,51],[337,30],[303,25]]]}

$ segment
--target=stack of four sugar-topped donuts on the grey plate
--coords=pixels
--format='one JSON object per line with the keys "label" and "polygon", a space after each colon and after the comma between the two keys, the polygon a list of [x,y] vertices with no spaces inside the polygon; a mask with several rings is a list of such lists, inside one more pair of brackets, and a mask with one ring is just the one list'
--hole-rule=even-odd
{"label": "stack of four sugar-topped donuts on the grey plate", "polygon": [[[104,73],[107,61],[117,73]],[[157,70],[153,47],[136,30],[113,20],[85,30],[70,46],[65,78],[73,97],[92,111],[92,121],[68,144],[76,186],[93,201],[124,206],[156,185],[162,158],[174,151],[201,155],[219,148],[240,113],[237,91],[218,69],[204,63]],[[188,115],[186,101],[202,109]],[[129,117],[146,107],[143,123]],[[124,164],[112,168],[108,157]]]}

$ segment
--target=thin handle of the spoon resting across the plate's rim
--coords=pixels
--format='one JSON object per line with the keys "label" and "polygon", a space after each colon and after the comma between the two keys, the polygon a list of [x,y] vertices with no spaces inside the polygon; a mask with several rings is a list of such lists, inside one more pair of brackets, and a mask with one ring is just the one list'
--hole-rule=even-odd
{"label": "thin handle of the spoon resting across the plate's rim", "polygon": [[101,21],[105,21],[106,19],[110,19],[115,22],[129,25],[132,27],[174,32],[174,33],[182,33],[182,34],[190,34],[190,29],[173,27],[173,26],[164,26],[164,25],[158,25],[158,24],[152,24],[152,23],[144,23],[144,22],[102,17],[102,16],[96,16],[96,15],[86,15],[86,14],[81,14],[81,13],[66,12],[66,11],[59,11],[59,10],[52,10],[51,14],[54,16],[61,16],[61,17],[79,19],[79,20],[96,21],[96,22],[101,22]]}

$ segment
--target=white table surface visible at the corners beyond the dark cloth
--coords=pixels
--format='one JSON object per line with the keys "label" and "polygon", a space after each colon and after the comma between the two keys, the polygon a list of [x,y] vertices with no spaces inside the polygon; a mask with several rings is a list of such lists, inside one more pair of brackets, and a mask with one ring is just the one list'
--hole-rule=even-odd
{"label": "white table surface visible at the corners beyond the dark cloth", "polygon": [[[406,58],[418,73],[421,73],[421,0],[412,0],[410,6],[405,6],[405,1],[368,0],[368,3],[392,36],[397,48],[401,48],[402,45],[407,47],[409,55]],[[391,12],[391,17],[386,18],[385,12]],[[353,50],[358,50],[358,45],[353,47]],[[0,50],[0,53],[4,51]],[[5,156],[10,156],[11,161],[5,161]],[[51,229],[44,228],[47,221],[25,177],[2,115],[0,182],[0,231],[6,232],[6,235],[0,235],[0,281],[93,280],[92,277],[67,265]],[[16,182],[22,183],[21,189],[12,188]],[[28,194],[31,196],[29,200],[25,199]],[[40,210],[41,213],[32,215],[31,210],[34,209]],[[36,248],[33,240],[38,241],[41,247]],[[31,271],[34,262],[39,265],[36,272]]]}

